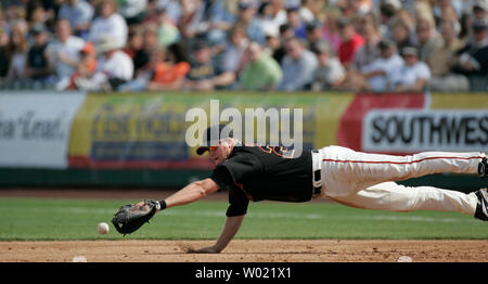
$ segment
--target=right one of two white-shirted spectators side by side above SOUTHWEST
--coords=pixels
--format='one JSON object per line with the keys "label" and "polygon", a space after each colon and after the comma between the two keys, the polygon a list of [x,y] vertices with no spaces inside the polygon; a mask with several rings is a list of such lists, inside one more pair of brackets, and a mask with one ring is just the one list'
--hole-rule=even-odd
{"label": "right one of two white-shirted spectators side by side above SOUTHWEST", "polygon": [[415,47],[403,47],[401,56],[404,64],[393,70],[390,90],[396,92],[422,92],[431,80],[427,64],[419,61],[419,50]]}

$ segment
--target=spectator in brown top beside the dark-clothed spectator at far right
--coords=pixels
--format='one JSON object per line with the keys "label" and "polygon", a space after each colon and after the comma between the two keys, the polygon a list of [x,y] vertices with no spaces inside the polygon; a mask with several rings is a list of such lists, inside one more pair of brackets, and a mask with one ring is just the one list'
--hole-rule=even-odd
{"label": "spectator in brown top beside the dark-clothed spectator at far right", "polygon": [[444,44],[433,50],[426,63],[432,73],[428,89],[433,91],[468,91],[470,81],[462,74],[452,73],[451,60],[454,52],[463,44],[455,36],[454,24],[451,21],[442,21],[439,24],[439,33]]}

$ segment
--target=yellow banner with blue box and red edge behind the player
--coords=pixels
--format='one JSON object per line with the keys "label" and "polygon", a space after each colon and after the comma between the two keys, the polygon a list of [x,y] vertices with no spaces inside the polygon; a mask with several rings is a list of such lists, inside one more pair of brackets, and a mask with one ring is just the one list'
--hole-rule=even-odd
{"label": "yellow banner with blue box and red edge behind the player", "polygon": [[[338,119],[352,98],[283,93],[89,94],[73,124],[69,165],[211,169],[208,155],[197,156],[196,146],[187,143],[188,130],[198,122],[245,124],[246,114],[259,112],[279,114],[278,119],[283,120],[285,114],[293,116],[295,109],[300,109],[304,149],[324,146],[336,140]],[[262,125],[257,120],[253,124]],[[243,129],[234,129],[239,131]]]}

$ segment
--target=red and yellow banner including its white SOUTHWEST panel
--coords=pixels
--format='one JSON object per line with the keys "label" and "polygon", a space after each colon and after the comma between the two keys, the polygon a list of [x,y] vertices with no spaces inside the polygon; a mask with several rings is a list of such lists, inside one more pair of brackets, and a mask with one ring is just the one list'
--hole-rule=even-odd
{"label": "red and yellow banner including its white SOUTHWEST panel", "polygon": [[488,152],[485,93],[358,93],[337,144],[362,152]]}

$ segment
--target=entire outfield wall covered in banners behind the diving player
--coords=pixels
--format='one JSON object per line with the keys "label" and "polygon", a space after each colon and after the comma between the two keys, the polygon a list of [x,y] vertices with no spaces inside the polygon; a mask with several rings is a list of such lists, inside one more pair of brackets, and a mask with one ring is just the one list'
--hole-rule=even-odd
{"label": "entire outfield wall covered in banners behind the diving player", "polygon": [[[257,107],[301,109],[304,149],[488,152],[488,93],[3,92],[0,186],[182,186],[213,168],[185,143],[189,109],[223,120],[227,109]],[[436,175],[407,184],[483,182]]]}

